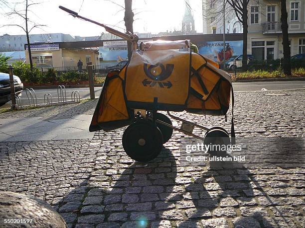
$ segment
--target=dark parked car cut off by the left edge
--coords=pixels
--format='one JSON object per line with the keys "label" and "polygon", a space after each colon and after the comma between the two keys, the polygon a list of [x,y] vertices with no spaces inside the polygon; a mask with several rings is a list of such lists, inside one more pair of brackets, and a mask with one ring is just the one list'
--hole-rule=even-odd
{"label": "dark parked car cut off by the left edge", "polygon": [[[18,76],[14,75],[13,78],[14,78],[15,93],[16,95],[21,96],[23,83],[21,82]],[[10,97],[9,75],[5,73],[0,73],[0,106],[10,100],[11,97]]]}

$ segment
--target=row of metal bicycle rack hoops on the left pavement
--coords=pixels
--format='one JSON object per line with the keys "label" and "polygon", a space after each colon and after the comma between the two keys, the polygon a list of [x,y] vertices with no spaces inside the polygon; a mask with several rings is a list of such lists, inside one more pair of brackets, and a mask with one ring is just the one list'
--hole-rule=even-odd
{"label": "row of metal bicycle rack hoops on the left pavement", "polygon": [[[28,105],[22,106],[21,97],[16,97],[16,108],[23,109],[28,107],[41,107],[41,106],[54,106],[54,105],[62,105],[62,104],[75,104],[80,103],[80,94],[79,91],[75,90],[71,93],[71,100],[67,100],[67,92],[66,87],[64,85],[58,85],[57,87],[57,95],[58,95],[58,102],[53,102],[53,98],[51,93],[44,94],[44,103],[38,104],[36,92],[33,88],[26,88],[25,93],[28,100]],[[56,99],[56,98],[54,98]]]}

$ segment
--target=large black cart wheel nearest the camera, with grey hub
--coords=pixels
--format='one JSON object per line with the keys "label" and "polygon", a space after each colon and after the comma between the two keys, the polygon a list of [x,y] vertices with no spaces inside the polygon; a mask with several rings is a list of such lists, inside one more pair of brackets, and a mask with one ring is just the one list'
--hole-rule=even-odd
{"label": "large black cart wheel nearest the camera, with grey hub", "polygon": [[160,129],[150,122],[136,122],[124,131],[123,148],[134,160],[146,162],[157,157],[162,149]]}

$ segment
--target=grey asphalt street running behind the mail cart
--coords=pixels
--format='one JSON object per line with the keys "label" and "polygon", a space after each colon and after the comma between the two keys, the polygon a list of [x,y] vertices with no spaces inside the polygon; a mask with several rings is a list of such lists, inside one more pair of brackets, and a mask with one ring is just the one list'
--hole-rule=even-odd
{"label": "grey asphalt street running behind the mail cart", "polygon": [[[305,81],[264,81],[264,82],[233,82],[234,91],[261,91],[263,88],[267,90],[286,90],[286,89],[305,89]],[[67,88],[67,100],[71,100],[72,91],[78,90],[80,98],[89,98],[89,88]],[[102,87],[95,87],[95,96],[99,97]],[[44,103],[44,94],[50,93],[53,102],[58,101],[57,89],[36,89],[38,103]],[[22,105],[28,105],[28,99],[25,92],[22,92]],[[9,107],[10,103],[6,103],[1,108]]]}

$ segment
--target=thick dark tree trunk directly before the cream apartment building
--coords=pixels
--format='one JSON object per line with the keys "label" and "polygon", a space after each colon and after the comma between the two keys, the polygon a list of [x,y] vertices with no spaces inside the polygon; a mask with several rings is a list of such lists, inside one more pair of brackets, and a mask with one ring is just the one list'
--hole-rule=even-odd
{"label": "thick dark tree trunk directly before the cream apartment building", "polygon": [[286,0],[281,0],[281,22],[282,22],[282,36],[283,36],[283,70],[285,75],[291,75],[291,64],[290,64],[290,47],[289,47],[289,36],[288,36],[288,23],[287,23],[287,9]]}

